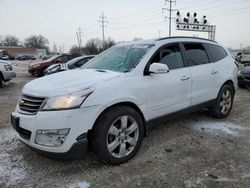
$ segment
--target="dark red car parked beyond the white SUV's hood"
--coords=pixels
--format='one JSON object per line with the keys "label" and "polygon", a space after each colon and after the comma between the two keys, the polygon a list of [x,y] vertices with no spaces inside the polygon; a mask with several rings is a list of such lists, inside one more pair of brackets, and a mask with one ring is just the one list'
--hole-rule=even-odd
{"label": "dark red car parked beyond the white SUV's hood", "polygon": [[29,73],[33,76],[43,76],[44,70],[48,68],[50,65],[56,64],[56,63],[66,63],[67,61],[80,56],[80,54],[60,54],[60,55],[54,55],[51,58],[41,61],[32,63],[29,66]]}

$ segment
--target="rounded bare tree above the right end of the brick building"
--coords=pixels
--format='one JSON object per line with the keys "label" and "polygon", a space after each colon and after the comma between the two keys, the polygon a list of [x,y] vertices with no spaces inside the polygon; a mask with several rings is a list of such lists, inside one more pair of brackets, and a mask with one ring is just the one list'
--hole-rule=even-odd
{"label": "rounded bare tree above the right end of the brick building", "polygon": [[24,45],[28,48],[48,49],[49,40],[42,35],[32,35],[25,39]]}

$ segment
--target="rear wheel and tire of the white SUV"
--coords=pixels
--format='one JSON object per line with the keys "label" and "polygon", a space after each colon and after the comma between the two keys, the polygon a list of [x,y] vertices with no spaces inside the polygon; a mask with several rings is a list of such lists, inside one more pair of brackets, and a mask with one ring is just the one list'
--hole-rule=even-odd
{"label": "rear wheel and tire of the white SUV", "polygon": [[219,91],[214,105],[211,108],[211,115],[215,118],[226,118],[232,110],[233,99],[233,86],[223,85]]}

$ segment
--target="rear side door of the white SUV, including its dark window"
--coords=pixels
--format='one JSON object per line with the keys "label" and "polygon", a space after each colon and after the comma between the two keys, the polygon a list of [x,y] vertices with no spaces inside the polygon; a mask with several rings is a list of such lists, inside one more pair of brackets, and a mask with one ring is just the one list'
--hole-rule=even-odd
{"label": "rear side door of the white SUV, including its dark window", "polygon": [[192,75],[191,106],[215,99],[217,96],[218,70],[210,63],[201,43],[183,43],[185,63]]}

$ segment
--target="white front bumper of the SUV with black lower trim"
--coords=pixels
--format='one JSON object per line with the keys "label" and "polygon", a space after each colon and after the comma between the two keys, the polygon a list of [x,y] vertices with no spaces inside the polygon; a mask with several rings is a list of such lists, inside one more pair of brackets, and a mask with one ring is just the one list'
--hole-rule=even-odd
{"label": "white front bumper of the SUV with black lower trim", "polygon": [[[75,158],[86,155],[87,132],[94,125],[98,112],[98,106],[92,106],[72,110],[38,111],[36,115],[25,115],[18,112],[17,107],[11,115],[19,119],[19,129],[16,131],[23,143],[46,156],[67,159],[69,156]],[[35,142],[37,130],[65,128],[70,128],[70,131],[61,146],[49,147]],[[85,137],[79,139],[82,134]]]}

